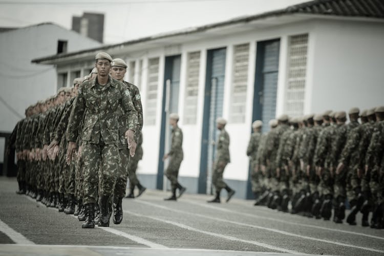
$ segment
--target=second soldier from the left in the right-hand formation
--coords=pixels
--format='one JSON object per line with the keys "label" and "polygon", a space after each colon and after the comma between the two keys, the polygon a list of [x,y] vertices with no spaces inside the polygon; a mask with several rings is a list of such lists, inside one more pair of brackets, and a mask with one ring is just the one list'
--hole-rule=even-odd
{"label": "second soldier from the left in the right-hand formation", "polygon": [[[275,129],[278,126],[278,120],[271,119],[268,122],[270,130]],[[272,193],[270,192],[270,186],[269,186],[269,176],[266,173],[265,162],[266,162],[266,155],[265,155],[265,148],[266,148],[266,140],[267,140],[268,133],[263,133],[260,139],[260,145],[258,147],[257,151],[257,158],[255,161],[255,166],[257,168],[257,171],[259,174],[259,180],[261,180],[261,186],[262,186],[262,195],[256,200],[254,205],[264,205],[268,197],[272,197]]]}

